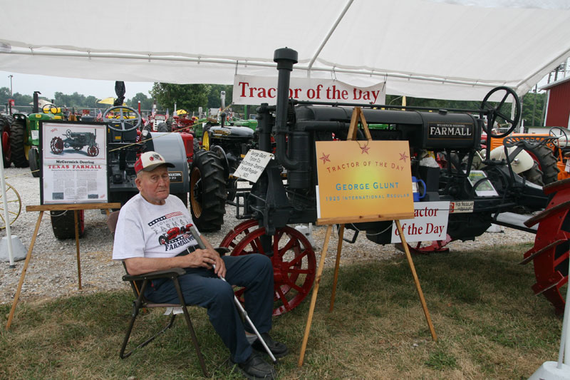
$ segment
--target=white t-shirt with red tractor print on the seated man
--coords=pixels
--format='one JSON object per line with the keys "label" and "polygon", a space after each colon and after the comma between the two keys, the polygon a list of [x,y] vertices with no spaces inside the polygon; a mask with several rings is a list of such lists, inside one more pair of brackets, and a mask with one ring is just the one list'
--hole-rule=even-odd
{"label": "white t-shirt with red tractor print on the seated man", "polygon": [[120,209],[113,260],[174,257],[197,245],[188,230],[190,225],[190,212],[175,195],[169,195],[164,205],[152,205],[137,194]]}

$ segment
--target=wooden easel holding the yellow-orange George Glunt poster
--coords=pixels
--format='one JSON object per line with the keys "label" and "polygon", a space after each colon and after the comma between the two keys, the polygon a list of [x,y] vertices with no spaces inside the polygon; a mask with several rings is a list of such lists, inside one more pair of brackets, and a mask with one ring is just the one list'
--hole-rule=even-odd
{"label": "wooden easel holding the yellow-orange George Glunt poster", "polygon": [[[368,123],[366,123],[366,120],[365,120],[363,112],[362,112],[362,108],[360,108],[360,107],[355,107],[354,111],[352,113],[351,125],[348,128],[347,140],[356,140],[356,132],[358,130],[358,120],[360,120],[362,125],[363,125],[363,130],[364,130],[364,134],[366,135],[366,139],[368,141],[371,141],[372,136],[371,136],[370,130],[368,130]],[[402,245],[403,245],[404,250],[405,250],[406,258],[408,259],[408,264],[410,265],[410,269],[411,269],[412,275],[414,277],[415,288],[418,290],[418,294],[420,296],[420,302],[422,304],[425,319],[427,321],[427,326],[430,329],[432,339],[435,342],[437,342],[437,334],[435,334],[435,329],[434,329],[433,324],[432,324],[430,312],[427,309],[427,304],[425,303],[425,298],[423,297],[422,288],[420,286],[420,280],[418,279],[418,274],[416,274],[416,272],[415,272],[415,267],[414,267],[414,263],[412,260],[412,256],[410,255],[410,250],[409,250],[408,244],[406,244],[406,242],[405,242],[405,237],[403,234],[402,226],[400,225],[400,219],[402,219],[404,217],[408,218],[411,216],[413,216],[413,215],[407,215],[407,214],[403,214],[403,215],[397,215],[396,214],[396,215],[394,215],[394,214],[392,214],[392,215],[390,215],[390,217],[383,217],[382,215],[378,215],[378,216],[374,216],[374,217],[359,217],[357,222],[371,222],[371,221],[380,221],[380,220],[394,220],[395,221],[395,225],[398,228],[398,233],[400,235],[400,240],[401,240]],[[309,333],[311,332],[311,322],[313,321],[313,314],[315,311],[316,297],[318,294],[318,284],[321,282],[321,276],[323,274],[323,267],[325,264],[326,252],[328,250],[328,240],[331,238],[331,232],[333,229],[333,224],[341,223],[340,230],[338,230],[338,245],[336,247],[336,265],[335,265],[335,269],[334,269],[333,290],[332,290],[332,294],[331,294],[331,305],[329,307],[329,312],[333,311],[334,299],[335,299],[335,295],[336,295],[336,284],[338,282],[338,269],[340,267],[340,262],[341,262],[341,251],[342,251],[343,235],[344,235],[344,223],[346,223],[346,222],[347,222],[346,218],[338,218],[338,220],[335,220],[335,218],[327,218],[327,219],[317,220],[317,223],[316,223],[317,225],[327,225],[327,228],[326,228],[325,240],[323,242],[323,250],[321,252],[321,261],[318,263],[318,269],[316,272],[315,282],[313,285],[313,294],[311,296],[311,306],[309,307],[309,317],[307,317],[307,324],[305,327],[305,334],[303,337],[303,343],[301,344],[301,354],[299,355],[298,366],[303,365],[303,361],[305,358],[307,341],[309,340]]]}

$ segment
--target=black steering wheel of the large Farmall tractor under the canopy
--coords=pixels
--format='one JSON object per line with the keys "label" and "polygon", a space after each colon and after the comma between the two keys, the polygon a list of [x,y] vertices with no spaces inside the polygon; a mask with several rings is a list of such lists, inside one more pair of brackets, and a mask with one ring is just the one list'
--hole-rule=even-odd
{"label": "black steering wheel of the large Farmall tractor under the canopy", "polygon": [[[494,107],[491,103],[489,103],[489,98],[496,93],[497,91],[504,91],[505,94],[502,100],[499,102],[499,105]],[[512,106],[514,106],[514,117],[507,116],[507,113],[510,113],[510,110],[504,103],[509,98],[509,95],[513,97]],[[483,124],[483,130],[490,135],[492,138],[504,138],[505,136],[509,135],[514,128],[517,127],[519,120],[521,118],[521,101],[517,93],[513,91],[512,88],[507,86],[500,86],[493,88],[487,95],[484,97],[481,103],[481,114],[487,115],[487,126]],[[509,130],[505,133],[493,133],[493,125],[497,121],[497,119],[502,120],[499,124],[509,124]]]}

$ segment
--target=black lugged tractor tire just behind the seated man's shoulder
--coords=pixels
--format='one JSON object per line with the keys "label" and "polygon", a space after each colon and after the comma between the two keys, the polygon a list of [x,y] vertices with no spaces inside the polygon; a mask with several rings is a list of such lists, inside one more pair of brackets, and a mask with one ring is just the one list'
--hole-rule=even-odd
{"label": "black lugged tractor tire just behind the seated man's shoulder", "polygon": [[199,231],[222,228],[226,195],[222,159],[209,150],[198,150],[190,169],[190,212]]}

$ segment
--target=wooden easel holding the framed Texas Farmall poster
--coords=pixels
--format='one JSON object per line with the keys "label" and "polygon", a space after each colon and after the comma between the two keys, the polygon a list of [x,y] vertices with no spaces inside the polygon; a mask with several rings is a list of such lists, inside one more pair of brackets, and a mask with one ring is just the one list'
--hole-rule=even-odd
{"label": "wooden easel holding the framed Texas Farmall poster", "polygon": [[6,330],[10,328],[12,324],[12,319],[14,318],[14,312],[16,312],[16,305],[18,304],[18,299],[20,297],[20,292],[22,285],[24,284],[24,277],[26,277],[26,270],[28,270],[28,264],[31,259],[31,252],[33,250],[33,245],[36,244],[36,237],[38,236],[38,230],[40,229],[41,218],[43,217],[43,212],[45,211],[73,211],[73,220],[76,226],[76,251],[77,251],[77,277],[78,277],[78,289],[81,290],[81,261],[79,259],[79,228],[77,220],[77,212],[79,210],[105,210],[107,215],[109,215],[109,209],[120,208],[120,203],[81,203],[74,205],[33,205],[26,206],[26,212],[28,211],[39,211],[38,221],[36,222],[36,229],[33,230],[33,236],[31,238],[30,247],[28,248],[28,254],[26,255],[26,262],[24,262],[24,269],[20,275],[20,282],[18,283],[18,289],[16,289],[16,295],[14,296],[14,302],[12,302],[12,308],[10,309],[10,314],[8,317],[8,323],[6,323]]}

